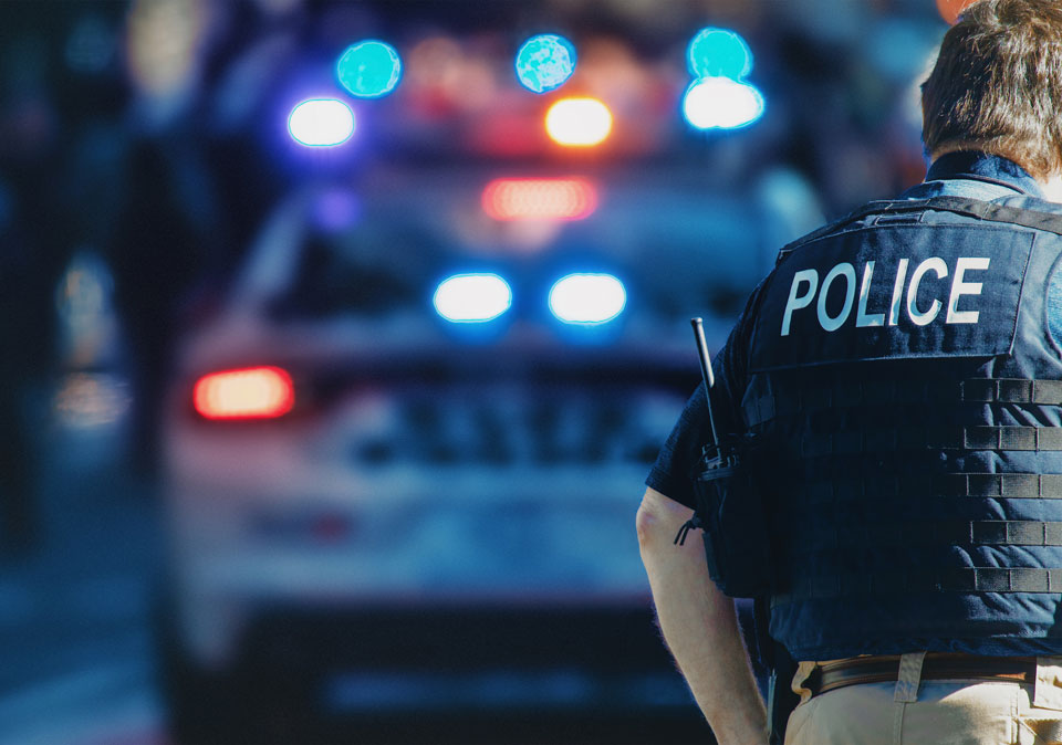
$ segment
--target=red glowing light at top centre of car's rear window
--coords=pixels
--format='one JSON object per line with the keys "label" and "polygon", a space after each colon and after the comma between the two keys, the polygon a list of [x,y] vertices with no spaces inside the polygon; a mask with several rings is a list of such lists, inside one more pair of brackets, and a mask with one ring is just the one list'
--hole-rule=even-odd
{"label": "red glowing light at top centre of car's rear window", "polygon": [[494,220],[582,220],[597,209],[597,189],[581,178],[499,178],[482,202]]}

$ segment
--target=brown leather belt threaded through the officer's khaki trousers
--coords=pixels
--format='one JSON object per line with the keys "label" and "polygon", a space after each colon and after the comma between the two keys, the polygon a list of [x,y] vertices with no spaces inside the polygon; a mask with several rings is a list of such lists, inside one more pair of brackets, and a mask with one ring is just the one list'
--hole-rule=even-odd
{"label": "brown leather belt threaded through the officer's khaki trousers", "polygon": [[[847,685],[888,683],[899,678],[899,655],[853,657],[824,662],[814,668],[804,688],[816,696]],[[922,667],[922,680],[969,680],[1010,683],[1037,681],[1033,657],[978,657],[929,652]]]}

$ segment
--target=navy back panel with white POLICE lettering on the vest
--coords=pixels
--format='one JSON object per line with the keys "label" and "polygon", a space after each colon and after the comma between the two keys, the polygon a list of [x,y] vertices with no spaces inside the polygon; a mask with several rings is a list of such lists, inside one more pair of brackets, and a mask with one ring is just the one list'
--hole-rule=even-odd
{"label": "navy back panel with white POLICE lettering on the vest", "polygon": [[764,291],[752,370],[1009,354],[1034,239],[996,225],[916,224],[810,241]]}

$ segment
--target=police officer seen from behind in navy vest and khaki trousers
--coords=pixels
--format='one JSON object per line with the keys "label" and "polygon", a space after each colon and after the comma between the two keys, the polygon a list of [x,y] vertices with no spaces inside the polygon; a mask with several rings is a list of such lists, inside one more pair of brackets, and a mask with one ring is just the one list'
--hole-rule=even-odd
{"label": "police officer seen from behind in navy vest and khaki trousers", "polygon": [[704,388],[647,479],[660,628],[726,745],[767,715],[690,515],[730,571],[770,555],[785,743],[1062,742],[1062,3],[971,6],[923,109],[926,181],[783,249],[715,359],[754,487],[695,489]]}

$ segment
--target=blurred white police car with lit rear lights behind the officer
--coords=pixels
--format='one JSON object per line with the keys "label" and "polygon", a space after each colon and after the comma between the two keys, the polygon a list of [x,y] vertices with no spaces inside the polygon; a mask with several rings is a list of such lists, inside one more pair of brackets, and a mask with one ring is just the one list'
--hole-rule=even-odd
{"label": "blurred white police car with lit rear lights behind the officer", "polygon": [[275,209],[164,415],[178,737],[705,735],[634,512],[684,314],[760,266],[740,203],[684,193],[451,170]]}

